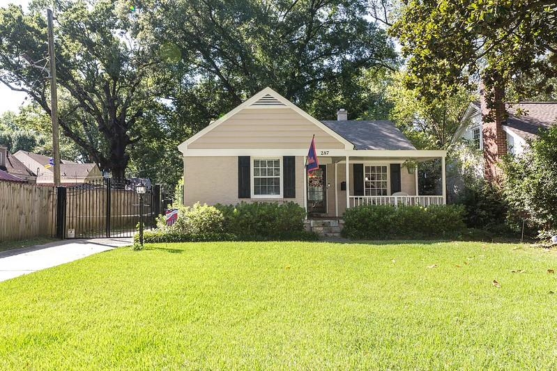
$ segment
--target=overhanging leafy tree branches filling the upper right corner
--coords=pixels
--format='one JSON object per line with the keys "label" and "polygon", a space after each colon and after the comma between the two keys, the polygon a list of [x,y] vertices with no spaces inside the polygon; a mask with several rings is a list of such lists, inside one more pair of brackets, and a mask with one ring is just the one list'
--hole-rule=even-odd
{"label": "overhanging leafy tree branches filling the upper right corner", "polygon": [[429,101],[457,93],[478,74],[488,92],[503,81],[528,95],[524,81],[535,76],[544,86],[557,74],[554,14],[554,1],[411,0],[390,33],[409,56],[406,85]]}

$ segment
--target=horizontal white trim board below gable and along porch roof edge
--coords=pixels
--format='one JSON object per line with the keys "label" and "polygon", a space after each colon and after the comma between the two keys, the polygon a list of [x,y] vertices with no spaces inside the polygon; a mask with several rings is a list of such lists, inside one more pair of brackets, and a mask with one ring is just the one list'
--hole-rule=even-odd
{"label": "horizontal white trim board below gable and along porch roof edge", "polygon": [[[305,156],[307,148],[245,148],[245,149],[191,149],[183,152],[184,157],[203,156]],[[383,161],[397,161],[395,158],[436,159],[447,155],[445,150],[329,150],[327,156],[322,157],[383,157]],[[386,160],[385,158],[388,158]],[[381,161],[379,159],[378,161]]]}

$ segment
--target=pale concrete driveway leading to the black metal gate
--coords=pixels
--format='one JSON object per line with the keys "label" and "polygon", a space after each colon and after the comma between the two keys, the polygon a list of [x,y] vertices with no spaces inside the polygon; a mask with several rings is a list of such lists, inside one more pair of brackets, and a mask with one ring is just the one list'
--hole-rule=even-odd
{"label": "pale concrete driveway leading to the black metal gate", "polygon": [[66,239],[2,251],[0,282],[131,244],[131,238]]}

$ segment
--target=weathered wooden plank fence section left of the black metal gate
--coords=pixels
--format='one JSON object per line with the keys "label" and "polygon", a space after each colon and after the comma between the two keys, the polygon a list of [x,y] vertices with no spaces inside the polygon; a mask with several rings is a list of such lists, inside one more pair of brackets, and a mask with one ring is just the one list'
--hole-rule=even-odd
{"label": "weathered wooden plank fence section left of the black metal gate", "polygon": [[0,241],[52,236],[56,189],[0,182]]}

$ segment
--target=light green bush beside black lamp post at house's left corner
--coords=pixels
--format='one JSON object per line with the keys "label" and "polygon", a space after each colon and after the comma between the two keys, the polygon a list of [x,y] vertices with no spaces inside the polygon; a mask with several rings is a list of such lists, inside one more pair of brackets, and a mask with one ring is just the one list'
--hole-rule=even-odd
{"label": "light green bush beside black lamp post at house's left corner", "polygon": [[214,206],[199,205],[193,207],[179,206],[178,220],[167,226],[165,216],[159,216],[157,227],[165,232],[199,235],[201,233],[221,233],[224,218],[222,212]]}

